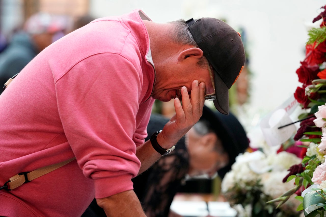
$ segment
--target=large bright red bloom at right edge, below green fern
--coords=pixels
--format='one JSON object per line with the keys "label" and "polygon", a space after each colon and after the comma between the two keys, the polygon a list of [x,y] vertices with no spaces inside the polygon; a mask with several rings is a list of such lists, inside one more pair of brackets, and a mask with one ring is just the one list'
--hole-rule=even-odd
{"label": "large bright red bloom at right edge, below green fern", "polygon": [[316,48],[316,41],[313,44],[306,45],[306,58],[305,61],[309,65],[322,64],[326,61],[326,41],[320,43]]}

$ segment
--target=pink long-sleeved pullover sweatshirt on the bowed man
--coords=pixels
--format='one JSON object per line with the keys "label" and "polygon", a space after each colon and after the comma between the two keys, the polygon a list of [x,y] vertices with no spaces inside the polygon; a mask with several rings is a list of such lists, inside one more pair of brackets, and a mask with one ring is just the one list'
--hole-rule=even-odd
{"label": "pink long-sleeved pullover sweatshirt on the bowed man", "polygon": [[17,173],[74,160],[12,191],[2,216],[80,216],[94,196],[133,189],[154,99],[149,36],[134,10],[68,34],[0,95],[0,186]]}

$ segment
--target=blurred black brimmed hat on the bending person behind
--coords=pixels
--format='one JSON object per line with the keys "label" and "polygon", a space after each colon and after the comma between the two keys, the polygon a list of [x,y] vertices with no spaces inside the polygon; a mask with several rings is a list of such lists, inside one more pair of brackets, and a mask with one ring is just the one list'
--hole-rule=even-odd
{"label": "blurred black brimmed hat on the bending person behind", "polygon": [[229,164],[217,171],[218,175],[223,179],[235,162],[235,157],[249,147],[249,140],[243,126],[232,113],[224,115],[204,106],[200,120],[209,123],[209,127],[221,139],[222,146],[229,155]]}

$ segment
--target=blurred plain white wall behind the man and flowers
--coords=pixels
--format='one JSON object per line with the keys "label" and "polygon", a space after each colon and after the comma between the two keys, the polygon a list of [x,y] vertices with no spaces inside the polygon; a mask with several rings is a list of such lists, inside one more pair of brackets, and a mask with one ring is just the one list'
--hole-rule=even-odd
{"label": "blurred plain white wall behind the man and flowers", "polygon": [[102,17],[140,8],[153,22],[215,17],[226,19],[235,29],[244,27],[253,72],[252,117],[248,118],[257,119],[282,104],[300,85],[295,71],[304,59],[307,29],[325,4],[322,0],[93,0],[90,12]]}

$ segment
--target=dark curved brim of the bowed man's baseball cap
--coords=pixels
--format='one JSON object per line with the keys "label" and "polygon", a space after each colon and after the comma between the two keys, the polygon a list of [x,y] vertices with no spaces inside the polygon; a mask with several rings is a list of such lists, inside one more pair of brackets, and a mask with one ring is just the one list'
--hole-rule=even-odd
{"label": "dark curved brim of the bowed man's baseball cap", "polygon": [[229,88],[214,70],[214,83],[216,100],[213,100],[215,108],[222,114],[229,114]]}

